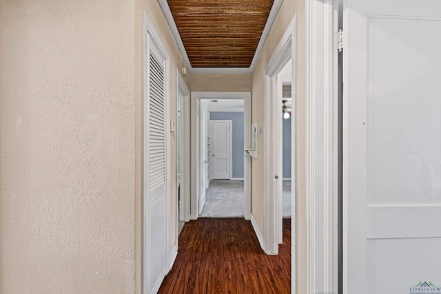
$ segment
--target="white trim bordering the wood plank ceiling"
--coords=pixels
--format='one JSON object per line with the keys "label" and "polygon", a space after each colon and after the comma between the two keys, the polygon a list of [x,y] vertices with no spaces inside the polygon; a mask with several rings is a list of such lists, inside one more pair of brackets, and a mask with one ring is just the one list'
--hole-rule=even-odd
{"label": "white trim bordering the wood plank ceiling", "polygon": [[263,28],[262,36],[260,36],[259,43],[256,48],[256,52],[254,53],[253,60],[249,67],[192,67],[190,60],[187,55],[187,51],[185,51],[184,43],[182,42],[181,35],[178,32],[178,27],[176,27],[176,23],[174,23],[172,12],[170,11],[170,6],[168,6],[167,0],[158,0],[159,6],[163,10],[163,14],[165,19],[167,19],[167,23],[172,30],[172,34],[174,36],[174,40],[178,45],[179,51],[183,56],[185,65],[188,68],[190,74],[251,74],[254,71],[254,67],[256,66],[257,60],[259,58],[260,52],[263,49],[263,45],[265,45],[265,41],[267,40],[267,36],[271,27],[276,20],[276,16],[278,10],[280,10],[280,6],[282,5],[283,0],[274,0],[273,6],[271,7],[271,11],[269,12],[267,23],[265,24],[265,28]]}

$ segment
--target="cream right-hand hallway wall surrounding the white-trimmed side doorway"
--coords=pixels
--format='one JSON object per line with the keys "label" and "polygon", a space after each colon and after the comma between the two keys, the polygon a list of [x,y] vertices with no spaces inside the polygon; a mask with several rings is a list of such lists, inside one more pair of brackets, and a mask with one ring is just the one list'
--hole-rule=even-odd
{"label": "cream right-hand hallway wall surrounding the white-trimmed side doorway", "polygon": [[[253,72],[252,121],[263,125],[263,71],[271,58],[287,26],[298,12],[298,87],[297,87],[297,293],[307,292],[307,219],[305,199],[305,1],[285,0],[276,21],[269,32],[265,46],[260,53]],[[252,162],[252,213],[260,231],[263,232],[263,133],[258,140],[258,150],[262,152]]]}

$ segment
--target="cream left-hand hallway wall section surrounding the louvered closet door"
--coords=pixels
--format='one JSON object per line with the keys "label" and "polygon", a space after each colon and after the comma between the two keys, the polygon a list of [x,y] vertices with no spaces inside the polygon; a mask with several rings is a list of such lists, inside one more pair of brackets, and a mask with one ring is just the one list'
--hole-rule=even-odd
{"label": "cream left-hand hallway wall section surrounding the louvered closet door", "polygon": [[[178,50],[176,41],[170,28],[165,20],[163,12],[156,0],[135,0],[135,109],[136,109],[136,124],[135,124],[135,146],[136,146],[136,181],[135,181],[135,191],[136,191],[136,209],[135,209],[135,268],[136,268],[136,282],[135,293],[141,293],[141,233],[142,233],[142,211],[141,211],[141,127],[142,127],[142,64],[143,64],[143,18],[142,11],[145,11],[150,22],[154,26],[154,30],[161,39],[165,47],[165,51],[170,57],[170,120],[176,121],[176,69],[180,70],[185,63],[183,62],[181,52]],[[188,72],[188,70],[187,70]],[[181,72],[182,73],[182,72]],[[182,75],[182,74],[181,74]],[[189,87],[189,74],[183,76],[185,83]],[[189,107],[189,106],[188,106]],[[176,246],[176,138],[169,134],[170,150],[172,153],[171,157],[171,171],[170,171],[170,250],[169,256]]]}

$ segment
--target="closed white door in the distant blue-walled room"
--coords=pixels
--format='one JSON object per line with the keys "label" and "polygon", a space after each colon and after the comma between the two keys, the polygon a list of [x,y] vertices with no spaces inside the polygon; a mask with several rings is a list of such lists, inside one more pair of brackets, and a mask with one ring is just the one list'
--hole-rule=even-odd
{"label": "closed white door in the distant blue-walled room", "polygon": [[212,173],[213,179],[230,178],[231,120],[212,120]]}

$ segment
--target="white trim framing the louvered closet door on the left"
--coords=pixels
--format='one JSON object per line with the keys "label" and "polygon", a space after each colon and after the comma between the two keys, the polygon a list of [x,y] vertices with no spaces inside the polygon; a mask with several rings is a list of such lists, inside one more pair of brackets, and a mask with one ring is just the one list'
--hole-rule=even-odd
{"label": "white trim framing the louvered closet door on the left", "polygon": [[[150,22],[150,19],[147,17],[147,14],[145,12],[145,10],[143,10],[143,83],[145,83],[145,76],[147,75],[148,72],[148,59],[149,59],[149,52],[150,52],[150,41],[149,39],[151,39],[152,42],[154,42],[156,44],[156,48],[158,49],[158,51],[160,52],[160,54],[163,56],[163,59],[165,60],[165,114],[164,114],[164,119],[165,119],[165,273],[167,273],[168,271],[170,271],[170,264],[171,264],[171,260],[170,257],[172,256],[172,252],[170,252],[170,125],[169,125],[169,119],[170,119],[170,102],[169,102],[169,96],[170,96],[170,90],[169,90],[169,86],[170,86],[170,58],[167,54],[167,52],[165,51],[165,47],[163,45],[163,43],[161,42],[161,39],[159,38],[158,34],[156,33],[156,31],[154,30],[154,27],[152,25],[152,23]],[[144,85],[143,87],[143,119],[142,122],[144,124],[144,103],[145,103],[145,99],[147,98],[147,87],[146,85]],[[142,128],[144,129],[144,125],[142,126]],[[142,132],[142,140],[141,142],[144,142],[144,130]],[[143,143],[144,144],[144,143]],[[144,154],[144,145],[142,148],[142,156],[141,158],[143,158],[142,160],[144,160],[146,154]],[[143,164],[144,165],[144,164]],[[142,202],[143,202],[143,211],[142,211],[142,215],[143,215],[143,226],[142,226],[142,239],[143,239],[143,246],[142,246],[142,251],[141,251],[141,255],[142,255],[142,272],[143,272],[143,282],[142,282],[142,287],[143,287],[143,291],[145,291],[145,289],[150,289],[150,287],[152,288],[152,293],[156,293],[156,291],[158,291],[159,286],[161,286],[161,284],[156,284],[156,285],[150,285],[150,280],[148,279],[148,276],[150,275],[149,269],[150,269],[150,260],[149,257],[147,256],[148,252],[149,252],[149,248],[147,246],[149,246],[149,242],[145,242],[144,240],[144,236],[145,236],[145,230],[147,230],[148,228],[148,224],[146,224],[146,220],[148,220],[148,210],[146,211],[144,209],[144,205],[145,205],[145,199],[144,199],[144,176],[145,176],[145,171],[144,171],[144,167],[141,167],[141,195],[142,197]]]}

